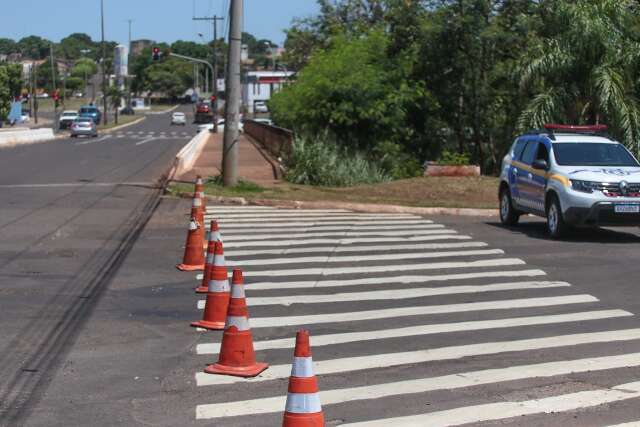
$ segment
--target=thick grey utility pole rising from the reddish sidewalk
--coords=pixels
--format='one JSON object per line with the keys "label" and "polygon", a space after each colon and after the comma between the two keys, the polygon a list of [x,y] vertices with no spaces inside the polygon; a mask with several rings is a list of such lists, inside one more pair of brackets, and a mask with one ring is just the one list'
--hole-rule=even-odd
{"label": "thick grey utility pole rising from the reddish sidewalk", "polygon": [[222,181],[225,187],[238,183],[238,142],[240,137],[240,54],[242,50],[243,0],[231,0],[229,54],[226,76],[226,108],[222,151]]}

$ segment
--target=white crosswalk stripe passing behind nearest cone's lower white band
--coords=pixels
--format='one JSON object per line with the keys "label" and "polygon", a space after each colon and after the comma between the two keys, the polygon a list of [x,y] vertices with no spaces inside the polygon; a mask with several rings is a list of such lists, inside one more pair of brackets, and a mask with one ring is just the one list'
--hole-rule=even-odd
{"label": "white crosswalk stripe passing behind nearest cone's lower white band", "polygon": [[[314,345],[315,345],[314,337]],[[508,368],[486,369],[462,372],[439,377],[420,378],[414,380],[394,381],[383,384],[372,384],[361,387],[337,390],[321,390],[320,401],[323,405],[353,402],[358,400],[381,399],[405,394],[425,393],[436,390],[451,390],[474,387],[485,384],[496,384],[505,381],[517,381],[527,378],[549,378],[578,372],[604,371],[640,365],[640,353],[622,354],[618,356],[594,357],[560,362],[548,362],[531,365],[518,365]],[[267,397],[262,399],[225,402],[196,407],[197,419],[222,417],[239,417],[243,415],[268,414],[281,412],[287,397]],[[474,412],[475,413],[475,412]],[[433,424],[420,424],[421,426]],[[633,425],[633,424],[630,424]],[[626,426],[620,424],[620,427]]]}

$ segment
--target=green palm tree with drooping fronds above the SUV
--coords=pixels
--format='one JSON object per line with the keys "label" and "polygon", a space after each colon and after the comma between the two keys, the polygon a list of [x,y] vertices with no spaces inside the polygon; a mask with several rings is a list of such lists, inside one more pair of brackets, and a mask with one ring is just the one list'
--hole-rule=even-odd
{"label": "green palm tree with drooping fronds above the SUV", "polygon": [[561,0],[547,4],[551,22],[545,28],[555,34],[532,46],[520,68],[521,89],[531,100],[519,117],[519,127],[538,128],[554,121],[606,122],[631,147],[640,136],[635,2]]}

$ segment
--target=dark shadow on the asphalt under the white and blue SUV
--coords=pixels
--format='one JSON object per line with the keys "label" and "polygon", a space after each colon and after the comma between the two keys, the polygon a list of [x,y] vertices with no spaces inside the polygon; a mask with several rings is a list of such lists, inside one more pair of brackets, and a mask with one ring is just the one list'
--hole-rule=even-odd
{"label": "dark shadow on the asphalt under the white and blue SUV", "polygon": [[[513,233],[524,234],[534,239],[551,240],[547,235],[544,221],[525,221],[512,227],[502,225],[502,223],[497,221],[489,221],[485,224],[509,230]],[[558,240],[563,242],[584,243],[639,243],[640,236],[629,232],[628,228],[574,228],[571,229],[565,237]]]}

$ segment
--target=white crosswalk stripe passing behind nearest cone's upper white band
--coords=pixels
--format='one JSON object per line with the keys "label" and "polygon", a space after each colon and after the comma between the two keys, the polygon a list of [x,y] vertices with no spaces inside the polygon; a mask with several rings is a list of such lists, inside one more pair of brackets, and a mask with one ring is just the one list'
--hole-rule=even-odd
{"label": "white crosswalk stripe passing behind nearest cone's upper white band", "polygon": [[[393,366],[426,363],[436,360],[454,360],[463,357],[477,357],[515,351],[532,351],[559,347],[569,347],[581,344],[611,343],[633,341],[640,339],[640,329],[625,329],[584,334],[557,335],[544,338],[525,340],[497,341],[480,344],[467,344],[450,347],[432,348],[426,350],[407,351],[402,353],[375,354],[370,356],[345,357],[314,361],[316,375],[329,375],[344,372],[358,372],[364,369],[390,368]],[[239,382],[259,382],[273,379],[288,378],[291,364],[270,366],[269,369],[255,378],[246,379],[221,375],[211,375],[204,372],[196,374],[198,386],[219,384],[233,384]],[[420,424],[429,425],[432,424]]]}

